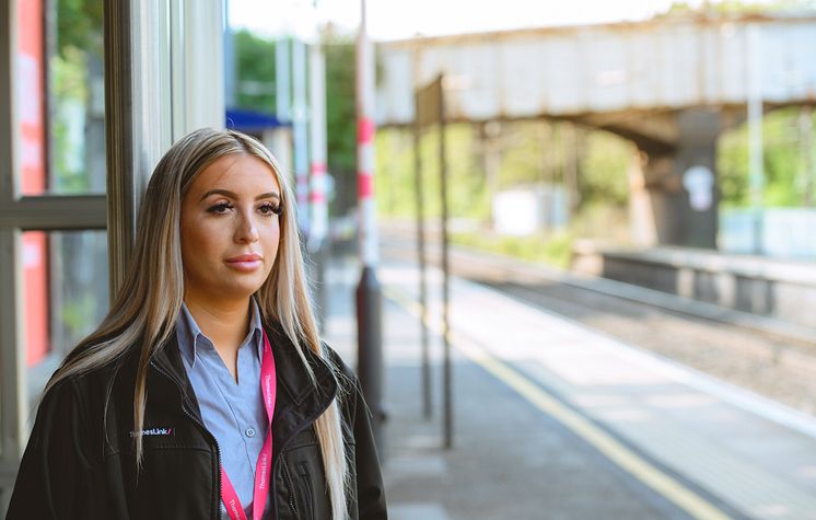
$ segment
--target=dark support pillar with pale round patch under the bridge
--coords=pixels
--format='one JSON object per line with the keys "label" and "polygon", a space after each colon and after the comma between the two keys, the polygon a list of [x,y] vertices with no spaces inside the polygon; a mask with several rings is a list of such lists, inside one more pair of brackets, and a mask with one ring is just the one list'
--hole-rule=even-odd
{"label": "dark support pillar with pale round patch under the bridge", "polygon": [[715,249],[720,113],[679,112],[676,128],[674,150],[636,150],[629,172],[632,239],[639,245]]}

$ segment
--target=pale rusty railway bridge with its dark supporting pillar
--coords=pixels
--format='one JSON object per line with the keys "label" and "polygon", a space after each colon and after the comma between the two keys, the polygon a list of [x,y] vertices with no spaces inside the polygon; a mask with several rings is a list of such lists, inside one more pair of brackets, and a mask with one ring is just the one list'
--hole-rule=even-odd
{"label": "pale rusty railway bridge with its dark supporting pillar", "polygon": [[[633,239],[715,247],[718,136],[749,113],[758,120],[773,108],[816,103],[813,48],[812,15],[666,18],[383,43],[377,119],[411,124],[415,89],[445,74],[455,79],[445,92],[448,120],[549,118],[617,134],[638,152]],[[753,162],[761,189],[761,154]]]}

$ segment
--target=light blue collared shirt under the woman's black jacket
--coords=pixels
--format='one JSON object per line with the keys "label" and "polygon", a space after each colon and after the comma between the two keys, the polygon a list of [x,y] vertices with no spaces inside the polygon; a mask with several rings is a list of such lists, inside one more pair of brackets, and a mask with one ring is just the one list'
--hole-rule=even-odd
{"label": "light blue collared shirt under the woman's black jacket", "polygon": [[[176,319],[178,348],[198,398],[201,418],[218,441],[221,465],[247,518],[252,518],[255,465],[267,434],[267,413],[260,390],[264,332],[254,298],[250,307],[248,333],[238,348],[237,383],[210,338],[198,327],[187,304],[182,304]],[[270,501],[267,499],[267,513]],[[223,502],[220,504],[221,517],[229,519]]]}

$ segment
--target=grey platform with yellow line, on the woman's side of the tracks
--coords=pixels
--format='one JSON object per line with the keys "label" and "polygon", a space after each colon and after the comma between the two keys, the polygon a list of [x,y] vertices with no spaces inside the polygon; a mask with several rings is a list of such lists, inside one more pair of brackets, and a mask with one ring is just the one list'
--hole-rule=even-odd
{"label": "grey platform with yellow line, on the woman's side of the tracks", "polygon": [[[384,263],[390,518],[816,519],[816,419],[455,278],[454,448],[422,417],[418,274]],[[438,273],[430,286],[439,287]],[[354,264],[329,273],[327,336],[355,362]]]}

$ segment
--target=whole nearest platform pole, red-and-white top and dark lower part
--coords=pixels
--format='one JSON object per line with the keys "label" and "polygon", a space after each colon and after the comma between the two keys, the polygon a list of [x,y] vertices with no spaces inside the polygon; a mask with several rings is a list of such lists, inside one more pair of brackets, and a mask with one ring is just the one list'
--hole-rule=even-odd
{"label": "whole nearest platform pole, red-and-white top and dark lower part", "polygon": [[365,0],[360,0],[357,38],[357,167],[362,274],[357,288],[358,373],[372,411],[372,430],[381,455],[385,453],[382,425],[383,337],[382,291],[376,276],[378,262],[374,199],[374,49],[365,32]]}

